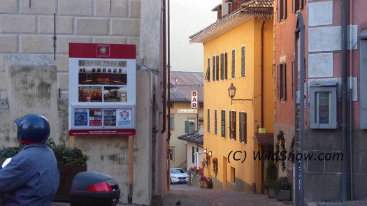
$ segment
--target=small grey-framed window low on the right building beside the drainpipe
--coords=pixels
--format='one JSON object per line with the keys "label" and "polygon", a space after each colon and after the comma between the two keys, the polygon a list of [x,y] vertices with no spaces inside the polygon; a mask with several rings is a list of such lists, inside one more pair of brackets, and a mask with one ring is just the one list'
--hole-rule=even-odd
{"label": "small grey-framed window low on the right building beside the drainpipe", "polygon": [[337,83],[310,85],[310,128],[338,128]]}

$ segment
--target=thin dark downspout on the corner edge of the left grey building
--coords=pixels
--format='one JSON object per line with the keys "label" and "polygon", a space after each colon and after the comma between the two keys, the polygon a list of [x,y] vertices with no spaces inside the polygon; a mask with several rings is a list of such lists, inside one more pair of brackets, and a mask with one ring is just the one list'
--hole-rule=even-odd
{"label": "thin dark downspout on the corner edge of the left grey building", "polygon": [[163,6],[163,14],[162,14],[162,33],[163,33],[163,41],[162,41],[162,47],[163,47],[163,121],[162,121],[162,130],[161,133],[165,133],[166,132],[166,121],[167,121],[167,117],[166,117],[166,94],[167,94],[167,90],[166,90],[166,0],[163,0],[162,3]]}

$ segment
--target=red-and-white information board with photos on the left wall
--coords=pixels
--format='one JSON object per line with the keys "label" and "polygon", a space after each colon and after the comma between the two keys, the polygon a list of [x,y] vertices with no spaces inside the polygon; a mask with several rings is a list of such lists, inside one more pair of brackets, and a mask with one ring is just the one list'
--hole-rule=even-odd
{"label": "red-and-white information board with photos on the left wall", "polygon": [[69,44],[69,135],[135,134],[136,45]]}

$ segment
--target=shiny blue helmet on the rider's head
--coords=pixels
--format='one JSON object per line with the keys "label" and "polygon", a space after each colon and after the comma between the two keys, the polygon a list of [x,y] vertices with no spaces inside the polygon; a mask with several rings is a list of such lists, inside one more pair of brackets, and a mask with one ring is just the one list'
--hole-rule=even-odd
{"label": "shiny blue helmet on the rider's head", "polygon": [[22,144],[45,142],[50,136],[50,124],[42,115],[29,114],[14,120],[17,138]]}

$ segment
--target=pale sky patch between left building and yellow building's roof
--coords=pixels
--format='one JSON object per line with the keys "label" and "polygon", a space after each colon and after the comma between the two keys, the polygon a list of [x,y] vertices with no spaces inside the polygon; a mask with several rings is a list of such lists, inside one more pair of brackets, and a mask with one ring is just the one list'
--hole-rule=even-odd
{"label": "pale sky patch between left building and yellow building's roof", "polygon": [[203,44],[189,43],[196,34],[217,20],[211,11],[221,0],[171,0],[171,71],[203,72]]}

